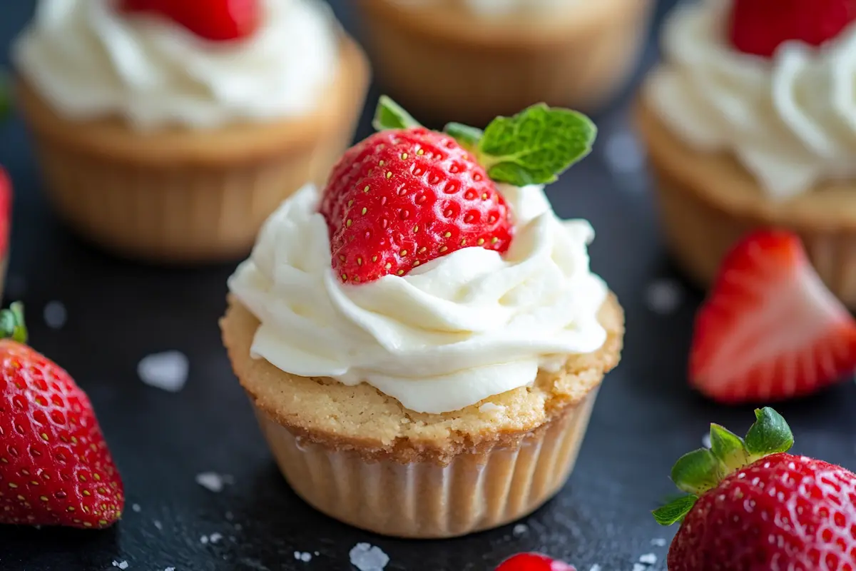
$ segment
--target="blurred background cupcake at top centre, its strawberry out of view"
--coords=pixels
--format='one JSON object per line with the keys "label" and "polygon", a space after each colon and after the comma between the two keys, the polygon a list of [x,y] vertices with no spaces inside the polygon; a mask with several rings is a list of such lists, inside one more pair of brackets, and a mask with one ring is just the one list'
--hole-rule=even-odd
{"label": "blurred background cupcake at top centre, its strawberry out of view", "polygon": [[[408,108],[484,125],[544,101],[607,103],[647,37],[651,0],[360,0],[377,74]],[[466,93],[466,97],[461,97]]]}

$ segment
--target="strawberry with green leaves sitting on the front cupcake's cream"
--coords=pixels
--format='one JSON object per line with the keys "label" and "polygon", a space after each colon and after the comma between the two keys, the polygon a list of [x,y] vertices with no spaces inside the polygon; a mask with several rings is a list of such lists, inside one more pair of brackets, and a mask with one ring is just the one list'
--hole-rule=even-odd
{"label": "strawberry with green leaves sitting on the front cupcake's cream", "polygon": [[379,133],[345,152],[319,207],[343,283],[404,276],[464,247],[505,253],[514,228],[496,182],[543,184],[591,150],[584,116],[536,105],[482,132],[419,126],[381,98]]}

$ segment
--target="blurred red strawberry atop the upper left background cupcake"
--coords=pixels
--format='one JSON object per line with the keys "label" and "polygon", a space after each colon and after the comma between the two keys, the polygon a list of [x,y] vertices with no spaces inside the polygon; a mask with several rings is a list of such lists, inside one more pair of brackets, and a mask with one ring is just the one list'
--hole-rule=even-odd
{"label": "blurred red strawberry atop the upper left background cupcake", "polygon": [[202,39],[245,39],[261,21],[259,0],[122,0],[127,13],[162,15]]}

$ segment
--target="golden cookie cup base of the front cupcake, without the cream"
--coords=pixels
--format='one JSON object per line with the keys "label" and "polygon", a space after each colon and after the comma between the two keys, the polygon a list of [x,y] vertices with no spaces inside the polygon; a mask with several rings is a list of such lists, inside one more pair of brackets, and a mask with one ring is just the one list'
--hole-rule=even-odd
{"label": "golden cookie cup base of the front cupcake, without the cream", "polygon": [[282,474],[313,507],[401,538],[449,538],[530,514],[574,468],[603,375],[619,360],[610,295],[602,348],[532,387],[455,413],[414,413],[367,384],[303,378],[250,357],[258,320],[235,299],[221,320],[235,374]]}

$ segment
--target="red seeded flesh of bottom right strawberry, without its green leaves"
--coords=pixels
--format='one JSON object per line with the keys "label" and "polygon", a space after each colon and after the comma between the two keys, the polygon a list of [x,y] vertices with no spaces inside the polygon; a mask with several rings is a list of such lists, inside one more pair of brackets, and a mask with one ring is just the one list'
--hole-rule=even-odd
{"label": "red seeded flesh of bottom right strawberry, without its green leaves", "polygon": [[681,523],[669,571],[854,571],[856,474],[775,454],[723,479]]}

